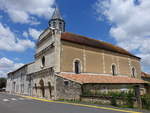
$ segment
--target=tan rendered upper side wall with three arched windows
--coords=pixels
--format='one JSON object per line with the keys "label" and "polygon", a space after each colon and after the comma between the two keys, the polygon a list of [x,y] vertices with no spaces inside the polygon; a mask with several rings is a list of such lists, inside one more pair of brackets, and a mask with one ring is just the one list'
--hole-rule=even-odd
{"label": "tan rendered upper side wall with three arched windows", "polygon": [[118,75],[131,77],[134,67],[135,76],[140,79],[141,66],[137,58],[66,41],[61,44],[61,72],[74,72],[73,61],[77,59],[82,73],[112,75],[112,64],[115,64]]}

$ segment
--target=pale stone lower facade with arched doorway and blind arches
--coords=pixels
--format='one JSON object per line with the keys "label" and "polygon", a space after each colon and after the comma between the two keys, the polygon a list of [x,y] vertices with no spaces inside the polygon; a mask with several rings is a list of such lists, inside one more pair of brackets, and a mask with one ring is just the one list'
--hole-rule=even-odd
{"label": "pale stone lower facade with arched doorway and blind arches", "polygon": [[[36,97],[45,97],[49,99],[55,99],[55,76],[50,69],[38,71],[31,74],[32,76],[32,95]],[[43,81],[43,89],[40,84]],[[42,94],[44,91],[44,95]]]}

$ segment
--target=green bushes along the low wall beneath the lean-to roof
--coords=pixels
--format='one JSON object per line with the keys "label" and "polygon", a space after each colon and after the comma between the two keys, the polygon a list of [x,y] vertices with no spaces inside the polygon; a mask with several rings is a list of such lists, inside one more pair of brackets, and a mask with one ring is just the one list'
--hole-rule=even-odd
{"label": "green bushes along the low wall beneath the lean-to roof", "polygon": [[[109,91],[107,93],[100,92],[84,92],[81,96],[81,100],[90,100],[92,103],[103,103],[105,102],[120,107],[129,107],[133,108],[137,106],[137,100],[135,97],[135,92],[133,90],[129,90],[128,92],[114,92]],[[106,101],[107,100],[107,101]],[[109,102],[108,102],[109,101]]]}

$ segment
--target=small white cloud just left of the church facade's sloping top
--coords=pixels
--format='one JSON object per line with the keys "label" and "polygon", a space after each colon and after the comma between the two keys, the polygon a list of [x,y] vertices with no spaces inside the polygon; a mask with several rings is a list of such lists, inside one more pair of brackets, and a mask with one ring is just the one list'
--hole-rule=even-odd
{"label": "small white cloud just left of the church facade's sloping top", "polygon": [[33,39],[37,40],[39,38],[40,34],[42,33],[42,31],[38,31],[36,29],[29,28],[28,33]]}

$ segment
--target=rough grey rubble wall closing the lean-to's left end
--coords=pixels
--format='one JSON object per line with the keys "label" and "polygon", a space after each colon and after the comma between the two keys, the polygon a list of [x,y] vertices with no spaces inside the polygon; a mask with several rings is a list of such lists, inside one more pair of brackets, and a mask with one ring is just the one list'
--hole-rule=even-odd
{"label": "rough grey rubble wall closing the lean-to's left end", "polygon": [[57,99],[80,99],[81,85],[61,77],[56,79]]}

